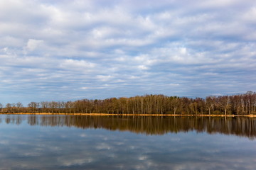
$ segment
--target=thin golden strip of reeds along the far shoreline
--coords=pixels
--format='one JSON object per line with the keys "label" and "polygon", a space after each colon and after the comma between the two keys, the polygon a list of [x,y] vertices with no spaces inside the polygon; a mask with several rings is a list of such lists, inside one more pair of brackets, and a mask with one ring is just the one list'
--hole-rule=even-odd
{"label": "thin golden strip of reeds along the far shoreline", "polygon": [[173,117],[249,117],[256,118],[256,115],[181,115],[181,114],[114,114],[114,113],[0,113],[0,115],[100,115],[100,116],[173,116]]}

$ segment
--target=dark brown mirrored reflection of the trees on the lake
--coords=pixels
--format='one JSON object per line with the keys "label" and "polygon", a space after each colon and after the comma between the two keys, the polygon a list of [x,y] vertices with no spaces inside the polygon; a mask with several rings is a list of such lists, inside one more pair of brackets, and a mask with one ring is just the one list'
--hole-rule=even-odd
{"label": "dark brown mirrored reflection of the trees on the lake", "polygon": [[256,118],[245,117],[6,115],[5,118],[6,123],[20,124],[24,120],[29,125],[128,130],[147,135],[163,135],[167,132],[176,133],[196,130],[196,132],[219,132],[249,138],[256,137]]}

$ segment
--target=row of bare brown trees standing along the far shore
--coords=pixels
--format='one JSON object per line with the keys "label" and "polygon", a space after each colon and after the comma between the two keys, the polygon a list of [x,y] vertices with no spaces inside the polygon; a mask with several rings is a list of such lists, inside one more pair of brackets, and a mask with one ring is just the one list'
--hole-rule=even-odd
{"label": "row of bare brown trees standing along the far shore", "polygon": [[130,98],[107,98],[105,100],[42,101],[31,102],[27,107],[22,103],[0,104],[5,113],[114,113],[114,114],[235,114],[256,113],[256,93],[233,96],[208,96],[187,98],[164,95],[145,95]]}

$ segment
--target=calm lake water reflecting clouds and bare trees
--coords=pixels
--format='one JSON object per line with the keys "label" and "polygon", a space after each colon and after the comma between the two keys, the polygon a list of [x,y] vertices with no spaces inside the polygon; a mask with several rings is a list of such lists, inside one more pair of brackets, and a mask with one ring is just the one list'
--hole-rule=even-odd
{"label": "calm lake water reflecting clouds and bare trees", "polygon": [[0,169],[256,169],[255,118],[0,115]]}

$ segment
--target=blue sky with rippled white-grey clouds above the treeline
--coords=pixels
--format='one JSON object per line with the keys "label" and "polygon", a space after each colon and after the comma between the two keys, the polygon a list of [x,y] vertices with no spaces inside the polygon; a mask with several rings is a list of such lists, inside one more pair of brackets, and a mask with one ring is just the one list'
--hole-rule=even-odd
{"label": "blue sky with rippled white-grey clouds above the treeline", "polygon": [[255,0],[1,0],[0,103],[256,91]]}

